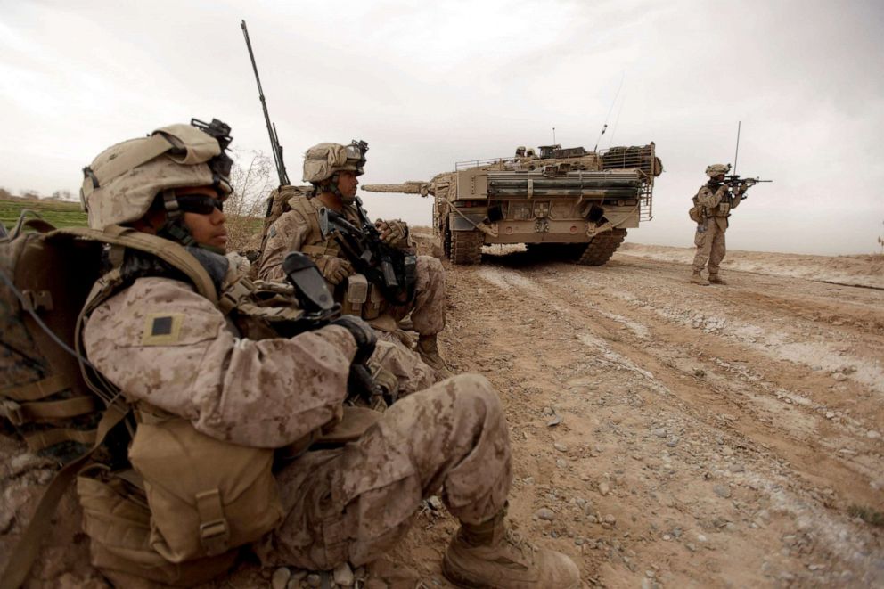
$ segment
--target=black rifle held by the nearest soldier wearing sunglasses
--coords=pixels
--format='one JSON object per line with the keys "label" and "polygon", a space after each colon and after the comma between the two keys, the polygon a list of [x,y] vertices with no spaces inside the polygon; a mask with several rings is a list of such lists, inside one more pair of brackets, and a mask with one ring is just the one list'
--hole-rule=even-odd
{"label": "black rifle held by the nearest soldier wearing sunglasses", "polygon": [[[295,296],[304,312],[297,322],[297,332],[320,329],[340,317],[340,305],[334,302],[323,275],[319,274],[319,269],[306,254],[289,252],[282,260],[282,272],[294,287]],[[364,363],[350,364],[347,384],[351,396],[362,397],[372,406],[381,399],[389,405],[397,397],[397,391],[387,391],[374,380],[371,370]]]}

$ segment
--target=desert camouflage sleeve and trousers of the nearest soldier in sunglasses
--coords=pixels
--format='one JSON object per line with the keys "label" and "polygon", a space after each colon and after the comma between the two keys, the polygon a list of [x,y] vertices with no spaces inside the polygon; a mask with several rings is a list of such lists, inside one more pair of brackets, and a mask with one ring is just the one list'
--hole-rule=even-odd
{"label": "desert camouflage sleeve and trousers of the nearest soldier in sunglasses", "polygon": [[[157,316],[172,317],[175,338],[151,340]],[[331,421],[356,351],[335,325],[291,339],[241,339],[188,284],[159,277],[102,303],[83,339],[89,360],[130,401],[259,447],[286,446]],[[454,377],[400,400],[355,443],[309,452],[279,472],[287,515],[263,556],[313,569],[361,564],[389,551],[439,487],[455,516],[479,523],[503,508],[511,478],[495,392],[482,377]]]}

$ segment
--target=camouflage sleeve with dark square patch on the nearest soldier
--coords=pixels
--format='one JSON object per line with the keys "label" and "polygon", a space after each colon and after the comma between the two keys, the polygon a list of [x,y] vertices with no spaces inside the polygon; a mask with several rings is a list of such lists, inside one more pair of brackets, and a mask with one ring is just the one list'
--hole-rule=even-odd
{"label": "camouflage sleeve with dark square patch on the nearest soldier", "polygon": [[86,354],[131,400],[243,446],[280,447],[323,426],[347,395],[356,343],[328,326],[291,339],[240,339],[184,283],[142,278],[83,331]]}

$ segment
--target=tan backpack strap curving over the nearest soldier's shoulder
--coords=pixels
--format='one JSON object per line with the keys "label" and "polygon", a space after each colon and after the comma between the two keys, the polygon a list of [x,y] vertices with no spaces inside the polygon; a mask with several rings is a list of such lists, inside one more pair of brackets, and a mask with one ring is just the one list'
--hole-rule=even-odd
{"label": "tan backpack strap curving over the nearest soldier's shoulder", "polygon": [[146,251],[181,270],[191,279],[197,292],[206,299],[209,299],[213,305],[218,304],[218,293],[215,290],[215,284],[209,278],[209,273],[183,246],[178,245],[174,241],[168,241],[156,235],[142,233],[120,225],[111,225],[104,231],[87,227],[67,227],[56,229],[48,237],[51,238],[53,235],[72,235],[83,239],[102,241],[103,243]]}

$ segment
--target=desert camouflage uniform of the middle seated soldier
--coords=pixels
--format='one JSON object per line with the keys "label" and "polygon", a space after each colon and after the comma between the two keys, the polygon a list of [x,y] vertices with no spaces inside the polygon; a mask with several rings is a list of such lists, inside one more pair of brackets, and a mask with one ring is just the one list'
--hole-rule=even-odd
{"label": "desert camouflage uniform of the middle seated soldier", "polygon": [[[291,250],[305,251],[308,255],[315,248],[326,251],[329,255],[343,258],[338,244],[333,239],[323,239],[318,230],[318,222],[305,217],[302,211],[319,217],[319,209],[323,204],[315,198],[303,196],[292,197],[293,209],[279,217],[270,226],[267,233],[265,250],[261,257],[258,277],[263,280],[282,279],[282,258]],[[298,200],[302,200],[300,203]],[[305,202],[306,200],[306,202]],[[358,225],[356,209],[346,206],[343,209],[348,221]],[[445,270],[437,258],[418,256],[417,284],[414,302],[401,307],[389,306],[387,312],[397,321],[411,313],[414,331],[421,335],[435,335],[445,329]]]}

